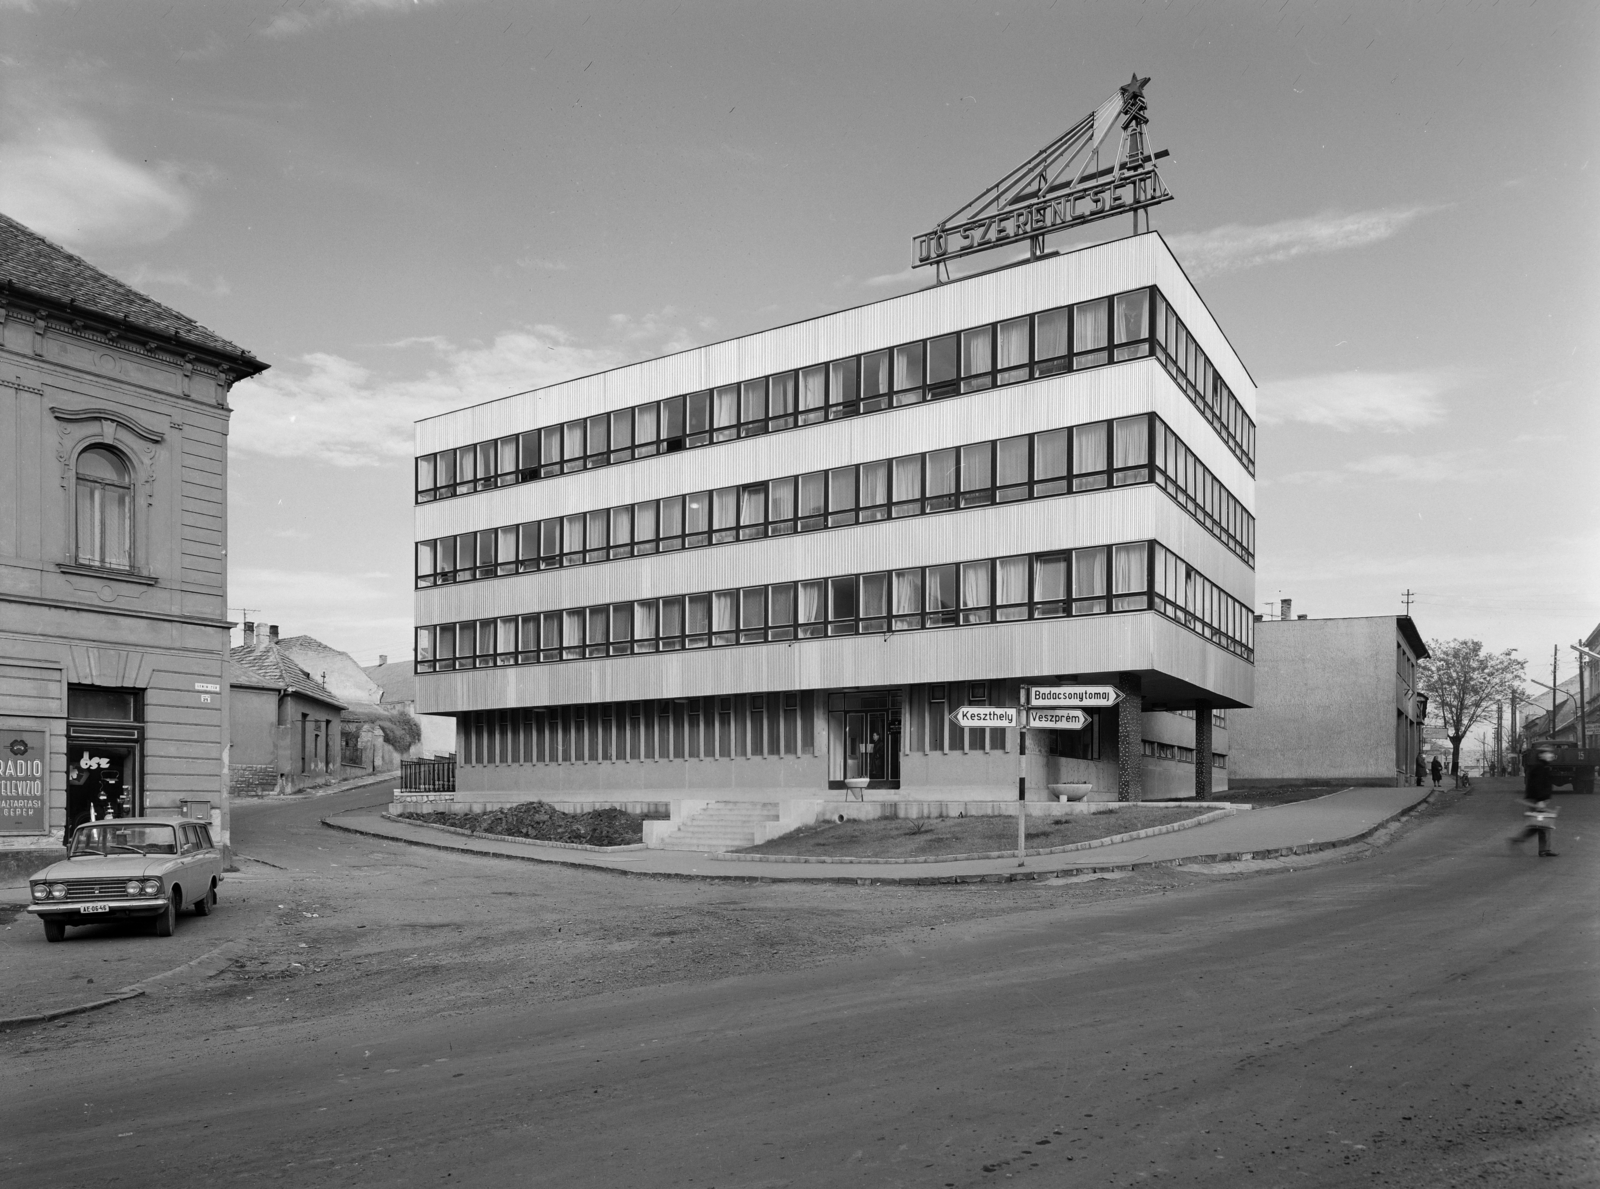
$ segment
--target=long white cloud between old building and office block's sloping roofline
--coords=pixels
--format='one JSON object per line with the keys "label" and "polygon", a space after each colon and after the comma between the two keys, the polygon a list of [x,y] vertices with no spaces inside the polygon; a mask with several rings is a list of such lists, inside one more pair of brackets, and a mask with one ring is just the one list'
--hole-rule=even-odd
{"label": "long white cloud between old building and office block's sloping roofline", "polygon": [[430,365],[411,376],[386,376],[328,352],[304,355],[298,366],[274,366],[234,387],[229,446],[344,467],[406,459],[419,418],[693,346],[672,314],[613,315],[603,346],[579,344],[557,326],[506,331],[488,346],[435,336],[389,344],[429,352]]}

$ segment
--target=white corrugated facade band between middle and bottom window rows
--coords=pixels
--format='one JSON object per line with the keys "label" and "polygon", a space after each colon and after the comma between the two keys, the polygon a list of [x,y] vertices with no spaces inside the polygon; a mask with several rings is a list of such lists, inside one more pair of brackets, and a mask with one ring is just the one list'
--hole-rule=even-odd
{"label": "white corrugated facade band between middle and bottom window rows", "polygon": [[1250,566],[1160,490],[1138,486],[440,586],[418,590],[418,623],[486,619],[1146,538],[1162,541],[1240,602],[1254,602]]}

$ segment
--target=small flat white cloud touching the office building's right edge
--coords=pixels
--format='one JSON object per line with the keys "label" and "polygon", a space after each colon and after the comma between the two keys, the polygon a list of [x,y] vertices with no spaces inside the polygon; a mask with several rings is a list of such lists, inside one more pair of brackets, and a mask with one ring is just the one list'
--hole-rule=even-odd
{"label": "small flat white cloud touching the office building's right edge", "polygon": [[1299,422],[1350,432],[1384,434],[1432,426],[1445,414],[1443,394],[1456,378],[1446,371],[1330,371],[1264,384],[1264,426]]}

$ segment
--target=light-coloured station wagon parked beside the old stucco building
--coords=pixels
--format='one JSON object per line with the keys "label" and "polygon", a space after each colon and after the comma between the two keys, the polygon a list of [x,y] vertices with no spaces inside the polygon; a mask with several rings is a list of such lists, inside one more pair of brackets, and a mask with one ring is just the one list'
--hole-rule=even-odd
{"label": "light-coloured station wagon parked beside the old stucco building", "polygon": [[216,907],[222,853],[211,827],[166,818],[109,818],[78,826],[67,858],[29,880],[27,911],[45,922],[45,939],[61,941],[67,925],[146,917],[170,938],[178,914]]}

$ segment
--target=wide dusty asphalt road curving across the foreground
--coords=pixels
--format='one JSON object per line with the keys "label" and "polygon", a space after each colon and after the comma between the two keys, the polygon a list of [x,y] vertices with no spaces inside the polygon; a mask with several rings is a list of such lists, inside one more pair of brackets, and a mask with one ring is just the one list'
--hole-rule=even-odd
{"label": "wide dusty asphalt road curving across the foreground", "polygon": [[[1592,799],[1563,799],[1557,861],[1512,851],[1515,799],[1478,791],[1288,874],[912,890],[467,859],[315,826],[341,800],[362,797],[238,816],[240,848],[285,871],[251,867],[214,917],[250,943],[235,968],[0,1039],[8,1181],[1597,1170]],[[136,941],[8,941],[8,963]]]}

